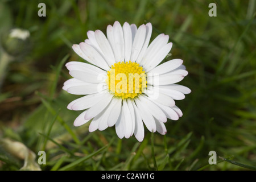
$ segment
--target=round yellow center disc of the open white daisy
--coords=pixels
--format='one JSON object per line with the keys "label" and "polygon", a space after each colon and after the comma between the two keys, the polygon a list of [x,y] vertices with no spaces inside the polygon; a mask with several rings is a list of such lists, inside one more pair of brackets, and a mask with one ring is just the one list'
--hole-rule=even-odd
{"label": "round yellow center disc of the open white daisy", "polygon": [[146,74],[138,63],[115,63],[108,71],[106,84],[116,97],[134,98],[147,88]]}

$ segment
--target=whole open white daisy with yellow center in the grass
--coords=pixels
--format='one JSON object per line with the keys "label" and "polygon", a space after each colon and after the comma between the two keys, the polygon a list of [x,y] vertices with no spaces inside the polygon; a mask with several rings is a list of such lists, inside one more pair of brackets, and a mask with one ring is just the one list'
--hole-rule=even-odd
{"label": "whole open white daisy with yellow center in the grass", "polygon": [[183,60],[160,64],[172,47],[169,36],[160,34],[149,44],[151,23],[137,28],[135,24],[125,22],[121,26],[115,22],[106,33],[88,31],[85,42],[72,46],[77,55],[91,63],[66,64],[73,78],[64,82],[63,89],[85,95],[68,105],[71,110],[85,110],[74,125],[91,121],[90,132],[115,125],[119,138],[134,134],[140,142],[144,138],[143,123],[151,132],[166,134],[167,118],[177,120],[183,115],[174,100],[182,100],[191,92],[176,84],[188,74]]}

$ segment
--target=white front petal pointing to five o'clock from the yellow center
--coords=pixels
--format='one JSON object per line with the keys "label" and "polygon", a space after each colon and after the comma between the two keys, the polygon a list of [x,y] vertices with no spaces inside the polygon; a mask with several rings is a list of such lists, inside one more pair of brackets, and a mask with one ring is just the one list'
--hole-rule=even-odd
{"label": "white front petal pointing to five o'clock from the yellow center", "polygon": [[155,132],[156,131],[156,126],[155,126],[155,119],[150,113],[150,111],[147,110],[147,105],[145,105],[142,101],[139,99],[135,100],[139,114],[141,115],[141,118],[146,125],[147,129],[150,132]]}

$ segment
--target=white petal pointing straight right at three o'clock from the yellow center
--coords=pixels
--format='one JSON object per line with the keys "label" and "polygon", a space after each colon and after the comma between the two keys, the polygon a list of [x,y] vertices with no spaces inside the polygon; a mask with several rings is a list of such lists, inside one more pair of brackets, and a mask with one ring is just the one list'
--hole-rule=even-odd
{"label": "white petal pointing straight right at three o'clock from the yellow center", "polygon": [[159,80],[158,82],[154,82],[152,80],[152,77],[147,78],[147,84],[149,85],[169,85],[169,84],[175,84],[176,82],[179,82],[183,80],[184,76],[183,75],[159,75]]}

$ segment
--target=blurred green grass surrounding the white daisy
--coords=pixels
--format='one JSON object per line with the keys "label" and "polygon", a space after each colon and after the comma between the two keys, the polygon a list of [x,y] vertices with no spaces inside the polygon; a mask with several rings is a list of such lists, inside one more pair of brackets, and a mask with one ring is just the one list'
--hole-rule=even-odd
{"label": "blurred green grass surrounding the white daisy", "polygon": [[[38,4],[46,4],[46,17]],[[209,3],[217,5],[210,17]],[[255,1],[0,1],[0,32],[30,31],[29,52],[7,68],[0,92],[0,138],[11,138],[38,154],[42,170],[249,170],[256,166]],[[74,127],[79,111],[66,107],[75,98],[61,90],[70,78],[64,64],[82,61],[72,44],[88,30],[118,20],[151,22],[152,38],[168,34],[174,43],[167,60],[184,60],[189,75],[181,81],[192,92],[177,101],[179,121],[167,134],[139,143],[119,139],[114,127],[88,132]],[[2,54],[2,52],[1,52]],[[209,165],[209,151],[230,160]],[[37,156],[38,158],[39,156]],[[231,161],[232,160],[232,161]],[[2,161],[2,162],[1,162]],[[0,146],[0,169],[18,170],[23,161]],[[254,166],[254,167],[253,167]]]}

